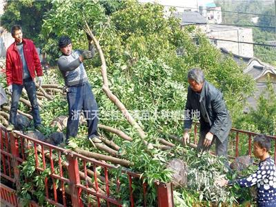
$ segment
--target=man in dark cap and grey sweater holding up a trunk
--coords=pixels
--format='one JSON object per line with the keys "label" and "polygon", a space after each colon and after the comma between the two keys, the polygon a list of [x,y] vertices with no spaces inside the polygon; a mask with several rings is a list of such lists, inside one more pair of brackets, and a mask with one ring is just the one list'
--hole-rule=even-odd
{"label": "man in dark cap and grey sweater holding up a trunk", "polygon": [[86,59],[95,56],[95,48],[88,36],[88,50],[72,50],[70,37],[63,36],[59,39],[59,49],[62,52],[57,65],[63,79],[67,92],[68,101],[68,122],[66,129],[66,144],[70,137],[76,137],[79,128],[79,117],[83,110],[88,123],[88,139],[93,143],[101,142],[98,137],[98,106],[88,83],[88,77],[83,65]]}

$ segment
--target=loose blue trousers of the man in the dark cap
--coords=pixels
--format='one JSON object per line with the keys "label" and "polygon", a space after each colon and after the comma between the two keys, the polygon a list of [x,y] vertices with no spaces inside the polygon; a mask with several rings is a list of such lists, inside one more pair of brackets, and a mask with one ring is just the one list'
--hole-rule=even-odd
{"label": "loose blue trousers of the man in the dark cap", "polygon": [[79,117],[83,110],[88,124],[88,138],[98,135],[98,106],[88,82],[79,86],[70,86],[67,92],[68,122],[66,130],[66,142],[70,137],[76,137],[79,128]]}

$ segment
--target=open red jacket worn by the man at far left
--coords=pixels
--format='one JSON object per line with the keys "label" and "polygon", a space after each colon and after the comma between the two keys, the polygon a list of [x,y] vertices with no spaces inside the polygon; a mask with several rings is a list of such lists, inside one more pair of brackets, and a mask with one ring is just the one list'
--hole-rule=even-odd
{"label": "open red jacket worn by the man at far left", "polygon": [[[34,79],[35,72],[37,72],[37,76],[42,76],[42,67],[34,43],[30,39],[23,39],[22,42],[24,57],[26,59],[30,76],[32,77],[32,79]],[[10,86],[10,84],[12,83],[22,85],[22,76],[23,63],[17,50],[17,45],[14,41],[14,43],[12,43],[10,47],[8,47],[6,55],[6,77],[8,86]]]}

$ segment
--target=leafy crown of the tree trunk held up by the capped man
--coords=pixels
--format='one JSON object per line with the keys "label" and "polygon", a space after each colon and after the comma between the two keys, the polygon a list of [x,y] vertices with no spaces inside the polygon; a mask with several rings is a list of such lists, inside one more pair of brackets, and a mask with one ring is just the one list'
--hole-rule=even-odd
{"label": "leafy crown of the tree trunk held up by the capped man", "polygon": [[62,35],[69,35],[75,47],[83,46],[85,20],[92,30],[104,26],[107,19],[99,1],[52,1],[52,10],[47,12],[41,30],[41,39],[49,42],[43,51],[50,55],[52,63],[59,56],[57,41]]}

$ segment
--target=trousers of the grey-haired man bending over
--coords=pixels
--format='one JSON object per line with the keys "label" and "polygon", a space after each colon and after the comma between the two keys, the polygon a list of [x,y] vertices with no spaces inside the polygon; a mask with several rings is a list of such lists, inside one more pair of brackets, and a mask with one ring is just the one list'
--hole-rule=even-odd
{"label": "trousers of the grey-haired man bending over", "polygon": [[208,146],[207,148],[203,146],[204,139],[206,134],[209,132],[209,130],[201,130],[200,131],[200,136],[199,136],[199,142],[197,144],[197,150],[201,151],[206,151],[209,150],[210,147],[214,144],[215,142],[215,153],[217,156],[223,156],[227,158],[227,148],[228,148],[228,137],[221,143],[221,141],[217,138],[216,135],[214,135],[212,144]]}

